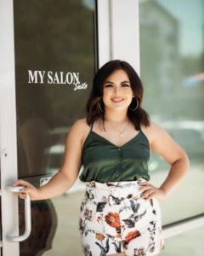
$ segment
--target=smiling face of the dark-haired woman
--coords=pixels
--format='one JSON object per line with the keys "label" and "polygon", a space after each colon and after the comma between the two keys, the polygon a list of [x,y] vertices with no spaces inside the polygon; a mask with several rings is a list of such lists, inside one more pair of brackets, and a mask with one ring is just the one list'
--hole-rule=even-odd
{"label": "smiling face of the dark-haired woman", "polygon": [[127,73],[124,70],[115,70],[107,79],[105,79],[103,86],[103,102],[105,108],[115,110],[124,110],[125,108],[128,108],[133,100],[133,90]]}

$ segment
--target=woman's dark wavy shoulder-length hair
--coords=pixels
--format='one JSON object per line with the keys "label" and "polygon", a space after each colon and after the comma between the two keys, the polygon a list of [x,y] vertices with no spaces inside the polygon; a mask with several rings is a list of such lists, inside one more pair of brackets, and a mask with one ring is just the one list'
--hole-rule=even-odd
{"label": "woman's dark wavy shoulder-length hair", "polygon": [[[139,131],[140,124],[143,123],[146,126],[150,125],[150,116],[147,112],[141,108],[143,101],[144,88],[141,80],[139,79],[138,74],[135,72],[133,67],[128,64],[126,61],[114,60],[108,61],[104,66],[100,67],[98,72],[94,76],[93,80],[93,88],[90,93],[90,97],[88,99],[86,110],[87,110],[87,124],[91,125],[94,120],[99,117],[103,120],[103,126],[105,123],[104,116],[104,102],[103,102],[103,85],[105,83],[105,79],[107,79],[111,73],[115,70],[124,70],[129,78],[131,88],[133,90],[133,95],[138,99],[139,105],[138,108],[132,111],[130,108],[135,109],[137,106],[137,100],[133,97],[132,102],[127,108],[127,116],[135,125],[135,129]],[[102,108],[103,112],[99,109]],[[105,127],[104,127],[105,130]]]}

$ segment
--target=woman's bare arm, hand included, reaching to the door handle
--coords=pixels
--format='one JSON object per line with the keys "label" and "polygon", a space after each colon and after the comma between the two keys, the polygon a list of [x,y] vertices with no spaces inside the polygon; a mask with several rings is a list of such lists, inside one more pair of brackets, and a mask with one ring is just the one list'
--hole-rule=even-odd
{"label": "woman's bare arm, hand included, reaching to the door handle", "polygon": [[[76,182],[80,167],[82,166],[82,119],[77,120],[71,126],[65,141],[65,157],[59,172],[52,177],[47,184],[36,189],[31,183],[18,180],[14,186],[25,186],[24,192],[28,192],[31,200],[43,200],[62,195],[71,189]],[[18,195],[20,193],[17,193]],[[22,197],[24,198],[24,196]]]}

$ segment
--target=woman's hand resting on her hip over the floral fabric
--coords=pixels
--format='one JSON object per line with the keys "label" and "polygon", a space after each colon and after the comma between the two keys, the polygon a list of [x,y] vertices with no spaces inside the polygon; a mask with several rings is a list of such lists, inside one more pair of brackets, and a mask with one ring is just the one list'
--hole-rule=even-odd
{"label": "woman's hand resting on her hip over the floral fabric", "polygon": [[140,183],[140,187],[141,188],[139,189],[139,192],[145,191],[141,195],[141,198],[143,199],[145,198],[146,200],[150,200],[152,197],[155,197],[157,199],[163,200],[165,197],[165,192],[163,189],[156,188],[148,182]]}

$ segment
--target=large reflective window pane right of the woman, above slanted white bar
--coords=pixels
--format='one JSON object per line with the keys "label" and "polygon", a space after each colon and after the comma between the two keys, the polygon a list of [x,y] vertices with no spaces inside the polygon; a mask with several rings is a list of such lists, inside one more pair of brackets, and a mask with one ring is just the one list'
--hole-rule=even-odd
{"label": "large reflective window pane right of the woman, above slanted white bar", "polygon": [[[139,1],[143,107],[190,159],[182,183],[160,203],[162,224],[195,216],[204,209],[203,7],[203,0]],[[150,183],[159,187],[170,167],[151,150]]]}

